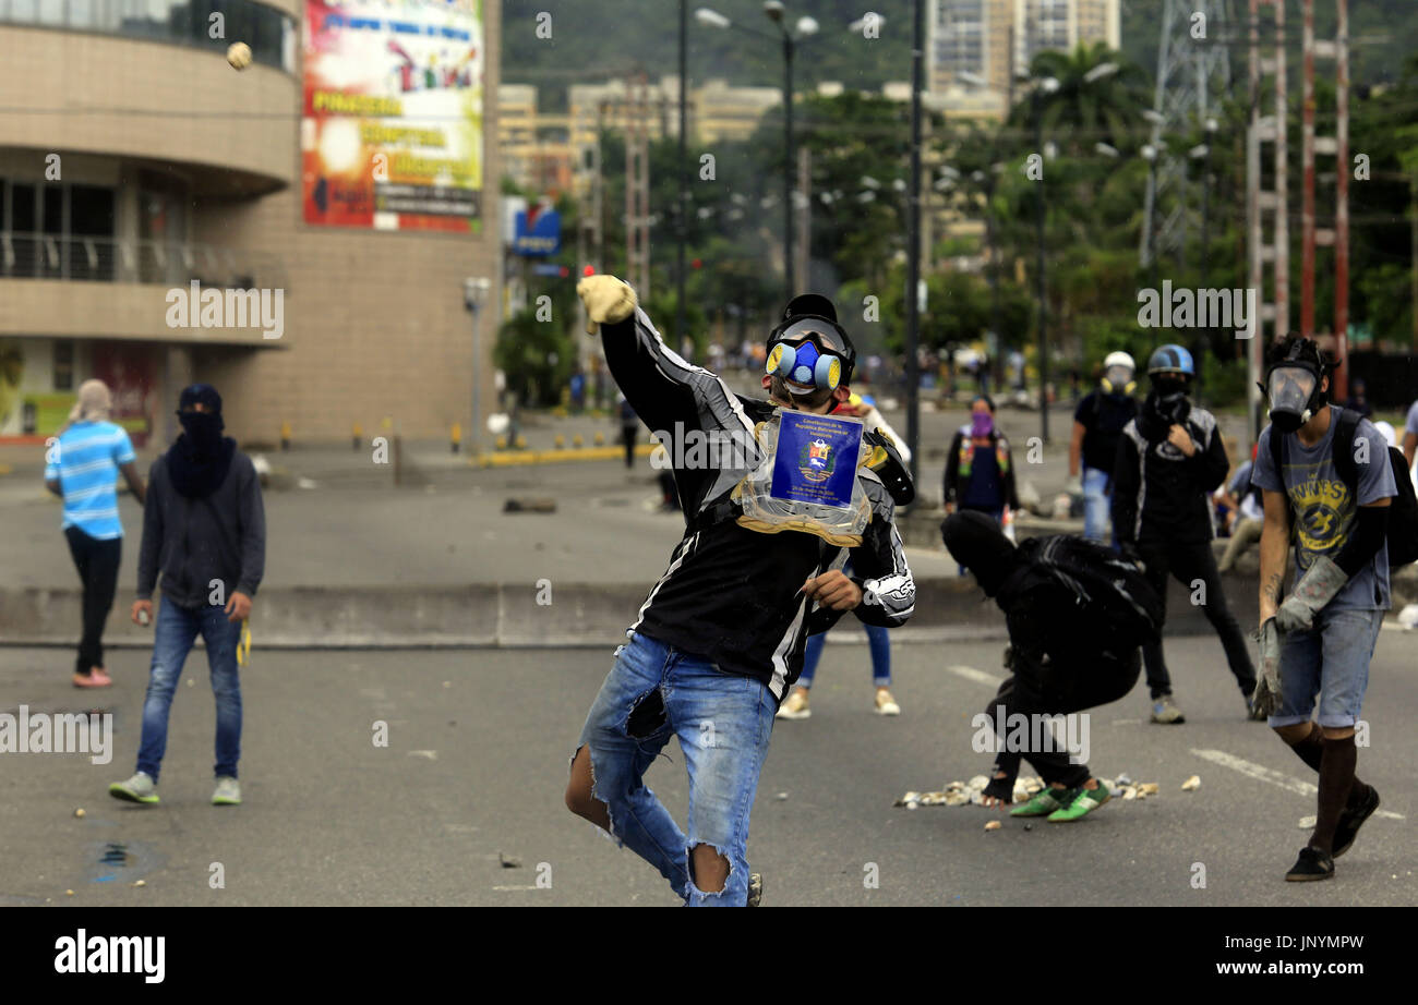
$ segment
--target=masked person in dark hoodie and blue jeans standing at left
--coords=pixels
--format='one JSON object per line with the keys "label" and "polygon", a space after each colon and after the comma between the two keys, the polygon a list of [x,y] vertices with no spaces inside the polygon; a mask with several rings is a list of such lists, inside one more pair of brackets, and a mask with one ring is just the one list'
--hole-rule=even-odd
{"label": "masked person in dark hoodie and blue jeans standing at left", "polygon": [[153,461],[138,557],[135,624],[153,614],[162,574],[153,663],[143,702],[138,770],[109,785],[109,795],[157,802],[157,771],[167,747],[167,712],[183,663],[200,634],[217,699],[217,787],[213,805],[241,802],[241,682],[237,644],[265,568],[265,509],[251,458],[223,437],[221,395],[193,384],[179,398],[183,432]]}

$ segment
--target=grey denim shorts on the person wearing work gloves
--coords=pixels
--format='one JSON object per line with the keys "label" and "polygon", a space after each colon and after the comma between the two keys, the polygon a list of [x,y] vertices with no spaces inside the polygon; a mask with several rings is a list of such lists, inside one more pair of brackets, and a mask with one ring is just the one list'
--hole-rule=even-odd
{"label": "grey denim shorts on the person wearing work gloves", "polygon": [[1307,723],[1316,695],[1320,726],[1357,723],[1383,624],[1383,611],[1326,608],[1314,617],[1314,628],[1286,635],[1280,644],[1280,707],[1269,724]]}

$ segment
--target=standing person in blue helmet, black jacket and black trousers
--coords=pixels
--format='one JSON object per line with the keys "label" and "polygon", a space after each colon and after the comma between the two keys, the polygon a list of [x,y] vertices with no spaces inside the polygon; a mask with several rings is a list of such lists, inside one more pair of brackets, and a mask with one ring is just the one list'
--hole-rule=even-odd
{"label": "standing person in blue helmet, black jacket and black trousers", "polygon": [[[1137,418],[1123,427],[1113,468],[1113,533],[1124,556],[1147,568],[1147,580],[1166,601],[1167,577],[1200,598],[1207,621],[1221,638],[1227,663],[1251,717],[1255,666],[1249,646],[1227,607],[1221,573],[1211,551],[1215,527],[1211,493],[1231,462],[1215,417],[1187,397],[1197,370],[1181,346],[1167,344],[1147,360],[1151,390]],[[1171,675],[1161,642],[1143,646],[1154,723],[1181,723],[1171,695]]]}

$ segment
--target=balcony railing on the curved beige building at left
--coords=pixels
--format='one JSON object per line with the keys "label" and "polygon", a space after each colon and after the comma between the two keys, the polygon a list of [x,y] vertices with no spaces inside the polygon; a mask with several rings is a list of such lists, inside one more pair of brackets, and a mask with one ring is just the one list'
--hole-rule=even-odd
{"label": "balcony railing on the curved beige building at left", "polygon": [[193,241],[0,231],[0,279],[286,289],[279,257]]}

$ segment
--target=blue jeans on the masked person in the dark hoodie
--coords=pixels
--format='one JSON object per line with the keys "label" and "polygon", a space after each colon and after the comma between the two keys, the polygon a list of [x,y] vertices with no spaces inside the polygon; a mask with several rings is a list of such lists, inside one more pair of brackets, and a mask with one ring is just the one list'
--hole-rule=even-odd
{"label": "blue jeans on the masked person in the dark hoodie", "polygon": [[179,607],[166,597],[157,605],[153,627],[153,666],[143,702],[143,740],[138,747],[138,770],[157,781],[167,750],[167,710],[197,634],[207,644],[211,693],[217,697],[217,777],[237,777],[241,760],[241,680],[237,676],[237,642],[241,622],[227,621],[220,607]]}

